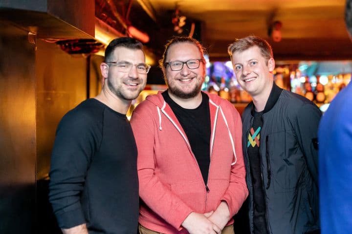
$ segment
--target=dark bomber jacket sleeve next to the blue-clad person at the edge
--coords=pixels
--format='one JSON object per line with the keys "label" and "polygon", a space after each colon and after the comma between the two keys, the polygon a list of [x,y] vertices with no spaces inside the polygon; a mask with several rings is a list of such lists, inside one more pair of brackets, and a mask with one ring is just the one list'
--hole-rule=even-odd
{"label": "dark bomber jacket sleeve next to the blue-clad person at the edge", "polygon": [[297,137],[306,158],[308,170],[318,186],[318,127],[322,114],[313,103],[304,104],[297,112]]}

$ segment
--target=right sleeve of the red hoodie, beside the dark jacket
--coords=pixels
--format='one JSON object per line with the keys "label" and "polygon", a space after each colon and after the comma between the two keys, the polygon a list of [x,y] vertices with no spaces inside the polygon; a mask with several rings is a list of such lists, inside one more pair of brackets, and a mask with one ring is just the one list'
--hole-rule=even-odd
{"label": "right sleeve of the red hoodie, beside the dark jacket", "polygon": [[245,181],[245,167],[242,153],[242,120],[240,114],[232,104],[228,109],[232,110],[232,116],[234,116],[232,120],[234,124],[229,124],[229,127],[234,126],[232,129],[230,128],[230,132],[235,143],[237,162],[231,168],[230,184],[223,195],[222,200],[226,201],[229,207],[230,216],[232,217],[237,214],[242,203],[247,198],[248,189]]}

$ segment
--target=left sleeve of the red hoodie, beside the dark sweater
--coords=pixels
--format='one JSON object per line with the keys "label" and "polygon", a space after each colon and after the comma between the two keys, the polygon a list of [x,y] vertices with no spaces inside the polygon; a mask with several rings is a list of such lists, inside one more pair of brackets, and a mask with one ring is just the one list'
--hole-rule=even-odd
{"label": "left sleeve of the red hoodie, beside the dark sweater", "polygon": [[157,215],[177,230],[181,230],[182,222],[193,210],[174,195],[154,173],[157,162],[154,157],[156,126],[154,126],[153,119],[146,112],[138,113],[137,107],[133,111],[131,126],[138,149],[139,196]]}

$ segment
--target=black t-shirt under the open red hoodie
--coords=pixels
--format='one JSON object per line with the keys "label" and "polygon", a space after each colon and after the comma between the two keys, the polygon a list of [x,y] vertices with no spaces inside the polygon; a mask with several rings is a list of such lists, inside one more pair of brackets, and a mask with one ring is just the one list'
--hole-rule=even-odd
{"label": "black t-shirt under the open red hoodie", "polygon": [[162,93],[181,124],[193,154],[196,156],[204,183],[207,184],[210,165],[210,110],[209,97],[202,94],[202,101],[196,109],[185,109],[172,100],[167,91]]}

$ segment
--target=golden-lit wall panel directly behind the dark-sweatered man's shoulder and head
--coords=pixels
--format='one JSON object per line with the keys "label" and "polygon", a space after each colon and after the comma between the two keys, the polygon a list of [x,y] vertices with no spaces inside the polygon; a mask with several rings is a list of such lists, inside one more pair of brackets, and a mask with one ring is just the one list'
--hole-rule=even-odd
{"label": "golden-lit wall panel directly behind the dark-sweatered man's shoulder and head", "polygon": [[[102,57],[69,55],[55,43],[37,42],[37,179],[48,176],[56,127],[67,111],[100,92]],[[90,76],[87,79],[89,62]]]}

